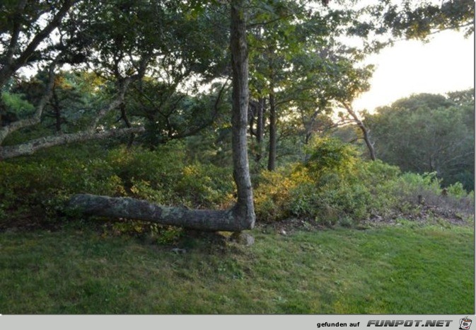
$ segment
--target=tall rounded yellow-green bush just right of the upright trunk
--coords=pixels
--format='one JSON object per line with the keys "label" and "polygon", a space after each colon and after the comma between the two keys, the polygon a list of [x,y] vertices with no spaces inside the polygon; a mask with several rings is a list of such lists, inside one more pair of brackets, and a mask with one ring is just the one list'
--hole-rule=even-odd
{"label": "tall rounded yellow-green bush just right of the upright trunk", "polygon": [[[359,166],[365,163],[354,149],[326,138],[315,139],[308,152],[310,157],[304,164],[262,173],[255,189],[258,220],[298,217],[335,224],[349,217],[365,219],[372,195],[359,179]],[[367,167],[367,172],[371,171]]]}

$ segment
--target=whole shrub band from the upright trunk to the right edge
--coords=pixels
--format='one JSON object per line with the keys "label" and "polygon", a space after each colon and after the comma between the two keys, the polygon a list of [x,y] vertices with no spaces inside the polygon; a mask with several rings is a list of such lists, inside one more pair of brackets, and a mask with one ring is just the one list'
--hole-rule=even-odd
{"label": "whole shrub band from the upright trunk to the right edge", "polygon": [[419,202],[472,212],[472,193],[461,184],[442,195],[436,173],[401,173],[382,161],[363,161],[337,140],[315,140],[303,164],[263,172],[255,188],[258,220],[297,217],[321,224],[355,224],[379,215],[418,210]]}

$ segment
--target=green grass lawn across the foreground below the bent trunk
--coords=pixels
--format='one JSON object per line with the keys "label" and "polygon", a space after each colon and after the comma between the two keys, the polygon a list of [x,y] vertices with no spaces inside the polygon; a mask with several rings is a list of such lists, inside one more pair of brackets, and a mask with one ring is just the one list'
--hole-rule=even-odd
{"label": "green grass lawn across the foreground below the bent trunk", "polygon": [[0,234],[0,314],[474,314],[473,227],[252,231],[185,254],[90,229]]}

